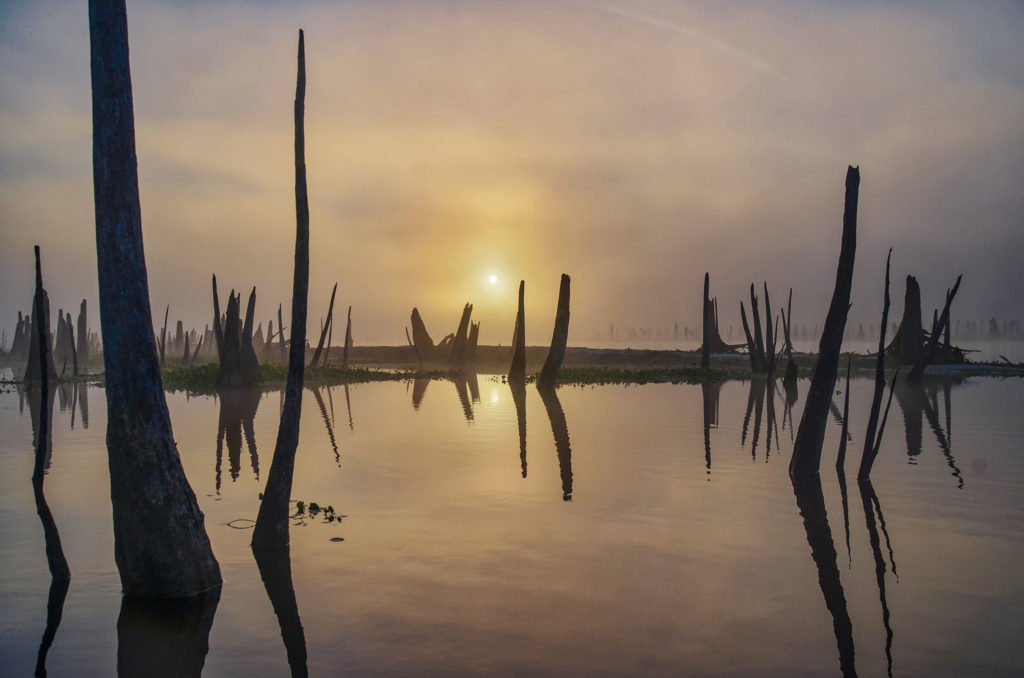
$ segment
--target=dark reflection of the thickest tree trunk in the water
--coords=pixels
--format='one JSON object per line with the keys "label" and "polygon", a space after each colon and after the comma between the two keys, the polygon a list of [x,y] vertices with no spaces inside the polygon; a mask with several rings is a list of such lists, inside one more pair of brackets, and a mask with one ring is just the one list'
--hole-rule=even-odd
{"label": "dark reflection of the thickest tree trunk in the water", "polygon": [[123,598],[119,678],[199,678],[219,602],[220,587],[184,600]]}

